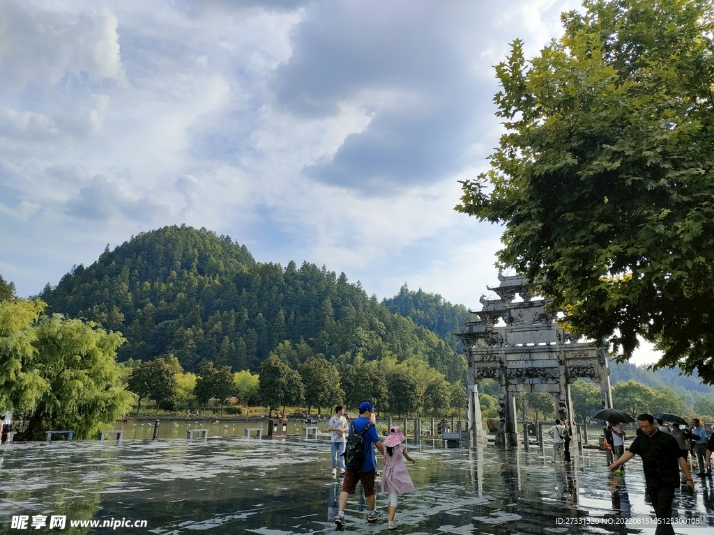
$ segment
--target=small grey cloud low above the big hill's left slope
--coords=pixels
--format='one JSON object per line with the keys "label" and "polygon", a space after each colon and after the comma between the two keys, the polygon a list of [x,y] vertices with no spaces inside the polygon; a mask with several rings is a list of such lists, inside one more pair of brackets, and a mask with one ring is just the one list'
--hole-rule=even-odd
{"label": "small grey cloud low above the big hill's left slope", "polygon": [[149,222],[166,215],[164,203],[144,195],[134,198],[127,195],[119,184],[104,175],[94,175],[89,185],[79,190],[76,198],[66,203],[64,213],[73,218],[106,222],[116,217]]}

